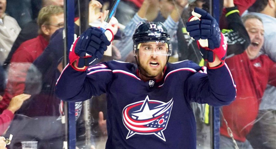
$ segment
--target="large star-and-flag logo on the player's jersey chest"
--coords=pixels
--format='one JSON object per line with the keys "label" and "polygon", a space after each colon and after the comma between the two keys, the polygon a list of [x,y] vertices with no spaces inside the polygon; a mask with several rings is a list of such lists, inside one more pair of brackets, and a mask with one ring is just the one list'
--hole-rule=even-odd
{"label": "large star-and-flag logo on the player's jersey chest", "polygon": [[173,99],[169,102],[145,100],[125,106],[122,118],[125,127],[129,130],[126,139],[135,135],[152,135],[166,141],[163,131],[169,122],[173,107]]}

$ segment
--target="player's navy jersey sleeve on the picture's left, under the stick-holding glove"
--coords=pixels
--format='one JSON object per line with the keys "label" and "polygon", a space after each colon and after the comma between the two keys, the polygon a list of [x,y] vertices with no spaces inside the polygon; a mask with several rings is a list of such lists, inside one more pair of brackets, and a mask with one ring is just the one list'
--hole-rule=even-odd
{"label": "player's navy jersey sleeve on the picture's left, under the stick-holding glove", "polygon": [[86,71],[76,71],[67,65],[56,82],[55,93],[64,101],[84,101],[106,93],[111,80],[112,70],[107,63],[93,65]]}

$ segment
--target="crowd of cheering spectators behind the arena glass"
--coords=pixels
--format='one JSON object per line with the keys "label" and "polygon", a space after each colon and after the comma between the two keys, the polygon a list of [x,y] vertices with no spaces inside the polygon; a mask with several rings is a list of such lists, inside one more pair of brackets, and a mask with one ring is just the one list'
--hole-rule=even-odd
{"label": "crowd of cheering spectators behind the arena glass", "polygon": [[[99,27],[112,2],[91,0],[89,25]],[[138,23],[154,21],[162,22],[170,33],[173,53],[169,62],[188,59],[204,66],[185,23],[195,7],[210,11],[210,3],[121,0],[108,25],[114,40],[104,57],[94,63],[112,59],[136,63],[132,35]],[[76,36],[80,35],[79,5],[75,0]],[[0,0],[0,136],[13,134],[8,148],[20,148],[21,141],[33,140],[41,149],[64,146],[64,103],[54,94],[66,65],[63,7],[63,0]],[[220,0],[220,7],[220,29],[228,43],[226,64],[237,85],[236,100],[220,108],[220,147],[276,149],[276,2]],[[104,147],[105,99],[105,95],[89,99],[89,133],[84,105],[75,103],[78,148]],[[206,148],[210,107],[195,103],[191,107],[197,121],[198,148]]]}

